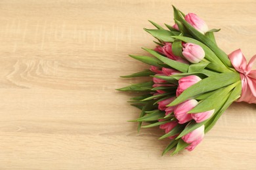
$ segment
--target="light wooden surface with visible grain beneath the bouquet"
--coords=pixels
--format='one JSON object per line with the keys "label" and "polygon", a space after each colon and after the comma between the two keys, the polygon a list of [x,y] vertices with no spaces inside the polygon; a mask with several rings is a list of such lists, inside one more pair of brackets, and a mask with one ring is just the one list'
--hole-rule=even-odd
{"label": "light wooden surface with visible grain beneath the bouquet", "polygon": [[256,54],[256,1],[0,1],[0,169],[255,169],[256,105],[234,103],[193,152],[163,156],[157,128],[114,89],[146,68],[147,20],[195,12],[227,53]]}

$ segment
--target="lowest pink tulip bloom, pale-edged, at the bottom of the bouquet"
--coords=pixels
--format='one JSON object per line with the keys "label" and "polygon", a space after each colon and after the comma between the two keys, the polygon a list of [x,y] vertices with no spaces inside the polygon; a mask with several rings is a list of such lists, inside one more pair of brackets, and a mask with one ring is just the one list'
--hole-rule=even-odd
{"label": "lowest pink tulip bloom, pale-edged, at the bottom of the bouquet", "polygon": [[182,137],[182,140],[185,143],[190,144],[190,146],[186,147],[186,149],[189,151],[193,150],[203,140],[203,136],[204,136],[204,125],[184,135]]}

